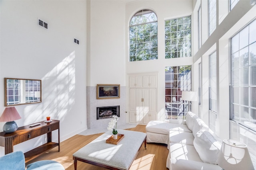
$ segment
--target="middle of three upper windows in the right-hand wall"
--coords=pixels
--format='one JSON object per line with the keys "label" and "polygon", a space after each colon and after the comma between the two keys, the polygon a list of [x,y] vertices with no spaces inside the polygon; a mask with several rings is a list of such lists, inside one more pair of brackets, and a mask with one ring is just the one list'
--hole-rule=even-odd
{"label": "middle of three upper windows in the right-hand wall", "polygon": [[208,0],[209,36],[216,29],[216,0]]}

